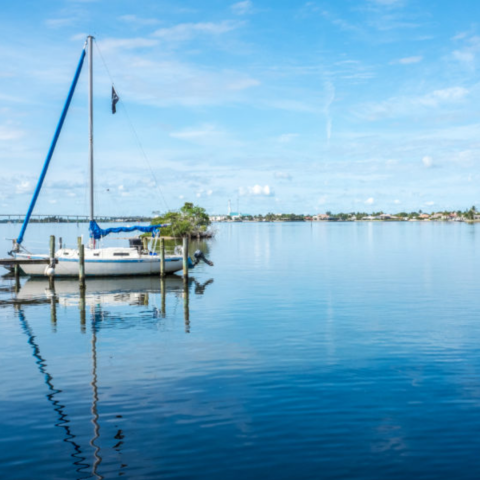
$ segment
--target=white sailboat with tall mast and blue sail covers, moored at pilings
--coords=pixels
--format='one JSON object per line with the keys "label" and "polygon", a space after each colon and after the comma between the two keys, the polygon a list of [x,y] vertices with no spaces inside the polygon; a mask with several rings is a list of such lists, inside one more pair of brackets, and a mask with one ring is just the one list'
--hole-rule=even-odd
{"label": "white sailboat with tall mast and blue sail covers, moored at pilings", "polygon": [[[14,246],[12,252],[10,252],[15,258],[18,259],[47,259],[49,258],[48,254],[45,255],[33,255],[25,251],[22,246],[23,238],[25,231],[27,229],[30,217],[32,215],[35,203],[37,201],[38,195],[42,188],[43,181],[47,174],[48,166],[50,160],[53,156],[57,140],[60,136],[62,126],[65,120],[65,117],[70,106],[73,94],[75,92],[75,87],[82,70],[85,56],[88,52],[88,103],[89,103],[89,138],[90,138],[90,148],[89,148],[89,180],[90,180],[90,244],[88,248],[85,248],[85,275],[87,276],[119,276],[119,275],[154,275],[160,273],[160,256],[153,251],[145,250],[141,242],[135,242],[131,239],[129,247],[109,247],[109,248],[96,248],[97,241],[106,237],[110,233],[118,232],[132,232],[140,231],[143,233],[151,233],[154,240],[158,240],[160,235],[160,228],[166,225],[151,225],[151,226],[133,226],[133,227],[115,227],[115,228],[106,228],[102,229],[95,221],[94,216],[94,169],[93,169],[93,37],[88,36],[87,40],[83,46],[83,50],[78,62],[78,66],[73,78],[72,85],[68,92],[67,100],[65,106],[63,107],[60,120],[58,122],[55,134],[53,136],[52,144],[48,151],[45,164],[43,166],[40,178],[38,180],[37,186],[33,193],[30,206],[28,208],[27,214],[25,216],[20,234],[17,239],[14,240]],[[154,245],[156,242],[153,242]],[[182,253],[181,247],[176,248],[176,254],[174,255],[165,255],[165,273],[173,273],[182,269]],[[22,251],[23,250],[23,251]],[[78,261],[79,261],[79,250],[71,248],[60,248],[55,253],[55,258],[57,264],[55,266],[55,271],[52,272],[51,267],[45,267],[44,264],[22,264],[21,269],[27,275],[46,275],[54,273],[56,276],[78,276]],[[192,267],[194,263],[189,258],[189,265]],[[49,269],[50,268],[50,269]]]}

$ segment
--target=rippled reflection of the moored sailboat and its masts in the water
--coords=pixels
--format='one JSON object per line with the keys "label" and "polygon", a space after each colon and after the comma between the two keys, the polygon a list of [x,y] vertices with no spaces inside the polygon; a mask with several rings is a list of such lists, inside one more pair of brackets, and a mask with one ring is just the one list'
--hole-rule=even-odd
{"label": "rippled reflection of the moored sailboat and its masts in the water", "polygon": [[[48,279],[31,278],[28,279],[19,289],[16,289],[15,296],[10,302],[17,312],[23,332],[27,336],[28,344],[31,347],[32,355],[37,364],[40,374],[45,380],[47,386],[47,401],[51,404],[56,414],[55,427],[63,430],[63,441],[71,445],[72,463],[78,474],[78,479],[86,478],[104,478],[99,473],[99,467],[102,463],[102,452],[99,446],[101,416],[98,410],[98,372],[97,372],[97,334],[101,329],[105,319],[105,312],[108,307],[121,305],[128,306],[151,306],[154,317],[165,317],[166,315],[166,296],[167,294],[183,299],[185,332],[190,332],[190,311],[189,311],[189,290],[193,288],[196,295],[203,295],[213,279],[200,283],[195,278],[190,277],[184,280],[178,276],[158,277],[134,277],[134,278],[94,278],[88,279],[86,288],[80,289],[79,283],[72,279],[57,279],[53,283],[53,288]],[[160,294],[160,308],[151,301],[153,297]],[[91,325],[91,407],[90,418],[92,424],[92,434],[88,446],[81,442],[74,433],[72,421],[74,418],[68,413],[68,405],[62,400],[62,391],[56,384],[54,377],[48,370],[48,361],[42,355],[41,345],[35,336],[32,326],[29,324],[25,307],[32,304],[51,305],[51,320],[54,330],[57,322],[57,306],[78,307],[80,316],[81,332],[87,332],[87,311],[90,312]],[[87,308],[88,307],[88,308]],[[122,415],[117,415],[122,418]],[[119,429],[114,437],[118,442],[113,449],[120,454],[125,438],[125,433]],[[83,443],[83,445],[82,445]],[[128,465],[120,463],[118,466],[118,475],[124,475]]]}

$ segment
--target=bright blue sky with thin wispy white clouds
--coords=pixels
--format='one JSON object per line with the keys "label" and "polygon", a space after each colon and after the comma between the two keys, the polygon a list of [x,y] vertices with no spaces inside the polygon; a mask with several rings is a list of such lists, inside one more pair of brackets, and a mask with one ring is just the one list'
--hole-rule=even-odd
{"label": "bright blue sky with thin wispy white clouds", "polygon": [[[97,214],[480,207],[479,14],[474,0],[4,2],[0,213],[26,211],[88,33]],[[88,213],[86,88],[85,69],[36,213]]]}

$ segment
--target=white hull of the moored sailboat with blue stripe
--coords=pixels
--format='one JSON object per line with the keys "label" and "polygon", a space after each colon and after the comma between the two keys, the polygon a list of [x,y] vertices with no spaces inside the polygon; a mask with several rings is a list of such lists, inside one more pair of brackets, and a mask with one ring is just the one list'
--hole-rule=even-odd
{"label": "white hull of the moored sailboat with blue stripe", "polygon": [[[48,255],[17,254],[16,258],[42,259]],[[56,252],[55,276],[78,277],[78,250],[62,249]],[[44,276],[45,264],[22,264],[27,275]],[[178,255],[165,255],[165,273],[182,270],[183,259]],[[85,275],[87,277],[115,277],[131,275],[160,275],[160,256],[142,254],[136,248],[85,249]]]}

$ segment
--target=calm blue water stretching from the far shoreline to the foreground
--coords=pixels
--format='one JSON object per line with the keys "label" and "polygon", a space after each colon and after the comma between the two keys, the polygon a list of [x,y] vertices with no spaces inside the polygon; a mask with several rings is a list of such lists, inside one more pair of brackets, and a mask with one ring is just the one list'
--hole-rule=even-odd
{"label": "calm blue water stretching from the far shoreline to the foreground", "polygon": [[156,278],[88,280],[85,305],[3,279],[2,478],[477,479],[479,245],[480,225],[223,224],[163,302]]}

